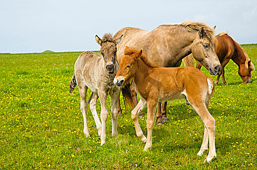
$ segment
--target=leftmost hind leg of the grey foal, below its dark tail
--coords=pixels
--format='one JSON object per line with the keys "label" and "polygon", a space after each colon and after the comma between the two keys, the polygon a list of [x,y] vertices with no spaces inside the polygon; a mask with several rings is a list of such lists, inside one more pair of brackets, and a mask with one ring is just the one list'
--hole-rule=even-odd
{"label": "leftmost hind leg of the grey foal, below its dark tail", "polygon": [[86,137],[89,137],[89,128],[88,128],[88,120],[87,120],[87,90],[88,87],[85,85],[83,80],[79,79],[79,76],[76,75],[76,81],[79,89],[80,94],[80,110],[83,114],[84,119],[84,134]]}

